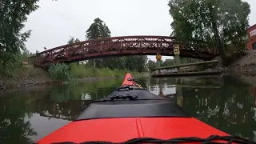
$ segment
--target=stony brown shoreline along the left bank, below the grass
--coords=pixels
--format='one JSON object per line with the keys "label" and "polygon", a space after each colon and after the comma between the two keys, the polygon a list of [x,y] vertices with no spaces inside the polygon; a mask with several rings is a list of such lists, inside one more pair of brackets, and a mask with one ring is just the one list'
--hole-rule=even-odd
{"label": "stony brown shoreline along the left bank, below the grass", "polygon": [[[41,68],[37,68],[30,65],[24,65],[22,66],[22,69],[18,72],[18,74],[14,77],[0,76],[0,90],[6,90],[11,88],[22,89],[28,86],[53,85],[67,82],[89,82],[102,79],[120,78],[124,76],[124,74],[121,73],[125,74],[126,72],[120,70],[120,74],[116,76],[90,76],[87,78],[71,78],[68,81],[61,81],[50,78],[50,74],[47,71],[42,70]],[[134,76],[141,75],[143,74],[134,72]]]}

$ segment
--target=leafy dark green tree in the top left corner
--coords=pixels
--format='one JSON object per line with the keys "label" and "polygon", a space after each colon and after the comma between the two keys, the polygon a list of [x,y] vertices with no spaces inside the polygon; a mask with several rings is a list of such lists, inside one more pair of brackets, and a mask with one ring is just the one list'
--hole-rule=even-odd
{"label": "leafy dark green tree in the top left corner", "polygon": [[0,1],[0,66],[3,71],[8,63],[17,61],[16,54],[25,49],[26,38],[30,37],[31,30],[22,33],[24,22],[34,10],[38,0],[27,1]]}

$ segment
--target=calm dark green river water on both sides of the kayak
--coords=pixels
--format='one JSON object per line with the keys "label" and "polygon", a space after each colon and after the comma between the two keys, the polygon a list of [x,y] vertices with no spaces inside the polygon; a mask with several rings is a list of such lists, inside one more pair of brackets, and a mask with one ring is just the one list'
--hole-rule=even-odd
{"label": "calm dark green river water on both sides of the kayak", "polygon": [[[253,78],[137,78],[137,81],[150,92],[173,99],[202,122],[256,141],[256,85],[249,82]],[[72,121],[82,107],[104,98],[121,83],[122,78],[35,86],[5,93],[0,98],[0,142],[36,142]]]}

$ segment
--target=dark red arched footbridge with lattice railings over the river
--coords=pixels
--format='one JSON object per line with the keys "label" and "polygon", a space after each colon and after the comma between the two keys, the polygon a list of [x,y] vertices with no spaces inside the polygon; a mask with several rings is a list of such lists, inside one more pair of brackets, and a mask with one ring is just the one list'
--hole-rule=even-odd
{"label": "dark red arched footbridge with lattice railings over the river", "polygon": [[214,58],[214,54],[205,49],[195,51],[185,48],[180,42],[176,42],[174,37],[126,36],[99,38],[58,46],[38,53],[34,62],[38,66],[44,66],[47,63],[78,62],[110,56],[155,55],[157,53],[174,56],[174,45],[180,45],[181,57],[204,60]]}

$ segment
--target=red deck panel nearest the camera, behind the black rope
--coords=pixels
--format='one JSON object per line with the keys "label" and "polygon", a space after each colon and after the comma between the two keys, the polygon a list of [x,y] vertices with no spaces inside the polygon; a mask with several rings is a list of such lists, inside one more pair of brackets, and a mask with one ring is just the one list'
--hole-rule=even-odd
{"label": "red deck panel nearest the camera, behind the black rope", "polygon": [[[70,122],[38,141],[51,142],[108,141],[125,142],[131,138],[207,138],[212,134],[229,135],[195,118],[106,118]],[[192,143],[192,142],[190,142]]]}

